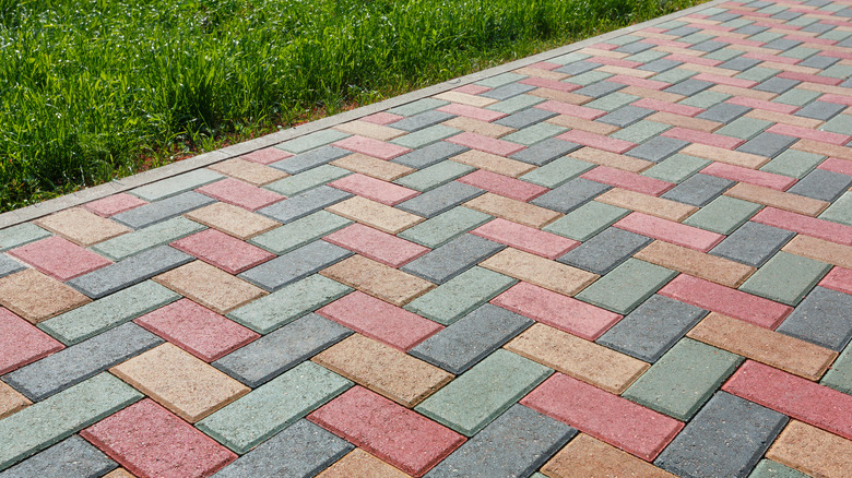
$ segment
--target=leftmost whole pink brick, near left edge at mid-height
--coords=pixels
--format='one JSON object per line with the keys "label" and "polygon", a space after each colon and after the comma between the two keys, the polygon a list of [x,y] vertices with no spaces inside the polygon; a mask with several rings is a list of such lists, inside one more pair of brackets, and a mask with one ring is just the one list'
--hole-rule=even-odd
{"label": "leftmost whole pink brick, near left edge at mid-height", "polygon": [[31,242],[8,252],[9,255],[14,255],[50,277],[62,282],[113,263],[108,259],[59,236]]}

